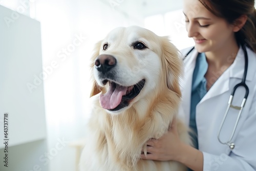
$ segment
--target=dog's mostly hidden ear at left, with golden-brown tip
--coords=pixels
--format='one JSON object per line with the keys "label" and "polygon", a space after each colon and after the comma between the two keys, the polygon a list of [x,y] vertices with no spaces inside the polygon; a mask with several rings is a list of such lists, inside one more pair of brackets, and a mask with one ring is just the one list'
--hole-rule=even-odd
{"label": "dog's mostly hidden ear at left, with golden-brown tip", "polygon": [[91,69],[91,80],[93,82],[93,85],[92,85],[92,90],[91,90],[91,94],[90,94],[90,97],[96,95],[96,94],[99,94],[101,92],[101,87],[97,84],[95,78],[94,78],[94,75],[93,75],[93,68],[94,68],[94,61],[95,59],[99,56],[99,51],[100,51],[100,48],[101,48],[101,41],[98,41],[96,44],[95,44],[95,47],[94,47],[94,53],[91,57],[91,63],[90,63],[90,69]]}

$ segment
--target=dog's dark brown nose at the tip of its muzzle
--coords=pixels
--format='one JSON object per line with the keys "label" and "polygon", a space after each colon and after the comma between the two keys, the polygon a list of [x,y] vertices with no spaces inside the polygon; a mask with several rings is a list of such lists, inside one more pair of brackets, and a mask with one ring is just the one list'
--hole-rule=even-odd
{"label": "dog's dark brown nose at the tip of its muzzle", "polygon": [[94,65],[99,72],[106,73],[116,66],[116,58],[112,55],[99,55]]}

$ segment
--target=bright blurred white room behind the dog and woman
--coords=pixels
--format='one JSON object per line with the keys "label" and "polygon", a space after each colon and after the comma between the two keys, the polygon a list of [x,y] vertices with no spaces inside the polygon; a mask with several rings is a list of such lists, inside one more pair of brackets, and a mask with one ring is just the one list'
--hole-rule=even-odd
{"label": "bright blurred white room behind the dog and woman", "polygon": [[112,29],[137,25],[169,35],[178,49],[194,45],[182,1],[175,0],[2,0],[0,19],[3,171],[77,170],[88,120],[89,59]]}

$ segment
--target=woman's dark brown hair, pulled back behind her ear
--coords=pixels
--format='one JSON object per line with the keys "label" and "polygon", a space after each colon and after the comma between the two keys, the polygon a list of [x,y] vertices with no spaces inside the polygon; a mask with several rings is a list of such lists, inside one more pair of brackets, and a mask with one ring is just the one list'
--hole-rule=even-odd
{"label": "woman's dark brown hair, pulled back behind her ear", "polygon": [[206,9],[229,24],[236,24],[236,19],[247,15],[248,19],[240,31],[235,33],[238,44],[246,45],[256,53],[256,10],[254,0],[199,0]]}

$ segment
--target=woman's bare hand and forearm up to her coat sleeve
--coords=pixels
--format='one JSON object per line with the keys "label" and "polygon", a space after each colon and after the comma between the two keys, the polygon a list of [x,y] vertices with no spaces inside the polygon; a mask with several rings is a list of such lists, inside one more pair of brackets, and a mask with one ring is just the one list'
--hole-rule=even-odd
{"label": "woman's bare hand and forearm up to her coat sleeve", "polygon": [[148,140],[146,144],[147,153],[150,154],[141,154],[142,159],[174,160],[183,163],[190,169],[203,170],[203,153],[180,140],[175,119],[166,134],[159,139]]}

